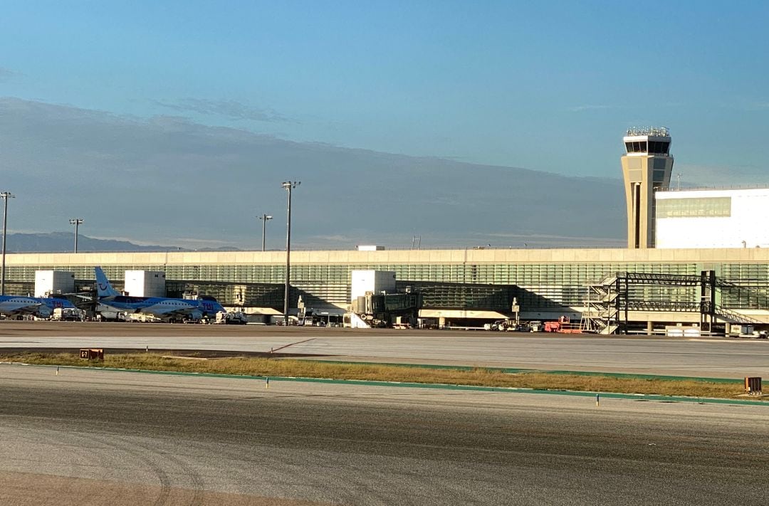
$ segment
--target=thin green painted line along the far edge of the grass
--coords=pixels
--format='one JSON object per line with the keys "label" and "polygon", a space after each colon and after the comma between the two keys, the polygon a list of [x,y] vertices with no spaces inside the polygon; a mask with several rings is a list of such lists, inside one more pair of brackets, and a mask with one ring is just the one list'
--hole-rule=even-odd
{"label": "thin green painted line along the far edge of the grass", "polygon": [[398,364],[392,362],[355,362],[355,361],[331,361],[331,360],[307,360],[304,358],[291,358],[289,360],[301,360],[303,362],[315,362],[318,364],[335,365],[382,365],[403,368],[419,369],[445,369],[448,371],[474,371],[482,369],[484,371],[502,372],[508,375],[526,374],[531,372],[541,373],[543,375],[575,375],[575,376],[604,376],[606,378],[623,379],[647,379],[664,381],[703,381],[707,383],[727,383],[742,384],[744,380],[735,378],[705,378],[701,376],[668,376],[668,375],[642,375],[632,372],[601,372],[601,371],[558,371],[549,369],[524,369],[524,368],[494,368],[470,365],[438,365],[438,364]]}

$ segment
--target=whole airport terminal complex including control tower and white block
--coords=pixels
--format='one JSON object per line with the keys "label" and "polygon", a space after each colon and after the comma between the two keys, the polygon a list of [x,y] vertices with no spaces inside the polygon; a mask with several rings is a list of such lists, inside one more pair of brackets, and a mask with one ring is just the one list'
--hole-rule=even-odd
{"label": "whole airport terminal complex including control tower and white block", "polygon": [[[568,316],[603,333],[769,325],[769,189],[671,191],[670,146],[666,129],[624,138],[628,248],[294,251],[289,312],[350,311],[353,271],[374,270],[420,294],[419,316],[439,325],[510,318],[514,306],[524,320]],[[285,251],[8,254],[6,292],[32,293],[36,271],[72,273],[89,289],[96,265],[118,289],[126,271],[151,271],[165,273],[168,297],[213,295],[256,315],[284,305]]]}

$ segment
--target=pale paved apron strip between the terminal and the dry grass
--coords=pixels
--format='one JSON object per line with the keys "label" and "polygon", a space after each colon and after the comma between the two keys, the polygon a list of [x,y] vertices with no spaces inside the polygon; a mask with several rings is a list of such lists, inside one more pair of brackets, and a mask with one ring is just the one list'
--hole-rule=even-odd
{"label": "pale paved apron strip between the terminal and the dry grass", "polygon": [[340,361],[769,377],[769,341],[258,325],[0,321],[2,348],[269,352]]}

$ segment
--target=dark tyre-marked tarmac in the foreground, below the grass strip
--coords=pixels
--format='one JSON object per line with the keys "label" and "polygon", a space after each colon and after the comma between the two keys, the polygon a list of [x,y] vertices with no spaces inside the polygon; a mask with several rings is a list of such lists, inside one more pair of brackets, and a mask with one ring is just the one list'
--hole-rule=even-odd
{"label": "dark tyre-marked tarmac in the foreground, below the grass strip", "polygon": [[767,408],[0,365],[0,504],[766,504]]}

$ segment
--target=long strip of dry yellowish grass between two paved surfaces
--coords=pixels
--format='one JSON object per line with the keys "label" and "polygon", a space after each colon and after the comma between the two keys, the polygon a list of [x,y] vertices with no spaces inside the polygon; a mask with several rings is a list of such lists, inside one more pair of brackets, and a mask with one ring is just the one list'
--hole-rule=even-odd
{"label": "long strip of dry yellowish grass between two paved surfaces", "polygon": [[74,365],[148,371],[181,371],[223,375],[289,376],[409,383],[462,384],[488,387],[535,388],[538,390],[601,391],[624,394],[680,395],[687,397],[735,398],[744,393],[739,383],[678,381],[665,378],[614,378],[598,375],[563,375],[538,372],[508,374],[491,369],[471,371],[414,368],[397,365],[327,364],[270,358],[163,357],[153,353],[107,355],[105,361],[85,361],[76,354],[22,353],[0,355],[0,361],[39,365]]}

